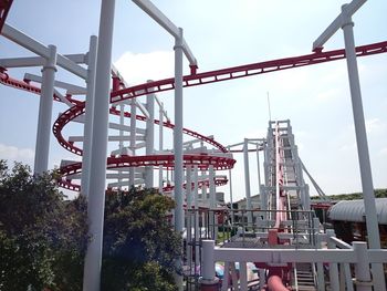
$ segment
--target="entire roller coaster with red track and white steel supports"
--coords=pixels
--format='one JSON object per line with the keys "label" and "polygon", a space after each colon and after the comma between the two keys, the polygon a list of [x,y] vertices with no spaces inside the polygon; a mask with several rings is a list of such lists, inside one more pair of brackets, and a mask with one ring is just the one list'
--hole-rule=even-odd
{"label": "entire roller coaster with red track and white steel supports", "polygon": [[[8,25],[4,20],[12,1],[0,1],[1,34],[38,55],[35,58],[0,60],[0,82],[2,84],[40,94],[41,96],[36,135],[39,143],[36,143],[34,172],[39,174],[48,169],[51,128],[62,147],[82,156],[82,163],[74,160],[62,162],[60,167],[62,179],[59,181],[59,185],[70,190],[80,191],[88,199],[90,232],[94,239],[88,247],[86,256],[84,290],[94,291],[100,289],[102,220],[106,180],[107,188],[113,190],[127,189],[127,187],[140,185],[155,187],[154,174],[156,170],[159,174],[159,191],[165,194],[172,193],[177,201],[175,211],[175,228],[177,231],[182,232],[184,227],[186,227],[187,230],[194,228],[195,233],[197,233],[200,219],[198,218],[199,212],[195,211],[199,211],[200,208],[201,210],[207,209],[212,214],[212,217],[209,215],[207,219],[207,228],[212,228],[213,230],[210,231],[212,235],[207,237],[207,239],[212,240],[199,241],[198,236],[192,238],[190,231],[187,231],[187,240],[189,237],[190,241],[188,242],[192,242],[190,243],[191,248],[187,248],[187,253],[190,253],[188,259],[189,269],[191,269],[192,263],[198,264],[198,243],[202,248],[201,283],[203,287],[211,288],[211,285],[218,284],[213,273],[215,261],[223,261],[227,270],[222,290],[228,290],[229,288],[229,269],[232,277],[233,262],[253,261],[260,270],[260,288],[266,284],[270,290],[287,290],[285,284],[287,287],[290,284],[293,285],[293,281],[297,279],[295,270],[299,262],[313,264],[316,273],[314,284],[316,289],[314,290],[324,290],[323,262],[328,262],[331,290],[338,290],[343,284],[346,285],[347,290],[353,290],[349,263],[357,263],[357,272],[355,274],[357,280],[356,290],[372,290],[369,267],[365,263],[368,261],[373,262],[372,280],[375,290],[386,290],[381,262],[386,262],[387,254],[380,250],[378,239],[356,56],[385,53],[387,52],[387,42],[354,46],[351,17],[365,1],[355,0],[344,6],[339,17],[316,40],[313,45],[314,52],[311,54],[203,73],[197,72],[197,61],[182,37],[182,29],[171,23],[151,2],[147,0],[134,0],[134,2],[175,38],[176,75],[174,79],[148,81],[140,85],[128,86],[119,72],[112,66],[111,53],[115,1],[102,1],[100,37],[98,39],[91,37],[90,51],[86,54],[72,55],[61,55],[56,53],[54,45],[45,46]],[[323,51],[324,43],[339,28],[344,31],[345,50]],[[97,45],[97,42],[100,44],[103,43],[103,45]],[[190,63],[190,74],[185,76],[182,76],[182,54],[186,55]],[[370,250],[364,249],[364,245],[355,245],[351,249],[351,254],[346,254],[346,257],[342,254],[349,253],[349,251],[331,250],[331,252],[324,253],[320,249],[322,241],[326,241],[328,247],[333,249],[336,249],[336,246],[343,247],[343,245],[333,239],[332,233],[320,233],[318,224],[311,216],[308,188],[303,179],[303,172],[306,169],[299,157],[290,121],[270,121],[266,138],[244,139],[241,144],[230,146],[221,145],[212,136],[203,136],[182,127],[182,87],[342,59],[347,59],[348,63],[367,215],[367,230],[370,238]],[[86,64],[87,70],[79,64]],[[8,74],[8,70],[12,67],[24,66],[43,66],[42,76],[25,74],[24,80],[20,81]],[[86,87],[56,81],[56,66],[61,66],[85,80]],[[33,83],[41,83],[41,86]],[[67,94],[63,96],[55,87],[65,89]],[[164,104],[156,95],[168,90],[175,91],[175,124],[167,116]],[[74,98],[73,95],[76,94],[86,95],[85,101],[82,102]],[[137,101],[139,96],[146,96],[146,105]],[[63,112],[52,126],[51,112],[53,100],[66,104],[69,110]],[[155,117],[156,106],[158,106],[158,118]],[[119,123],[109,122],[109,116],[116,116],[115,118],[119,118]],[[63,129],[70,123],[84,124],[84,135],[65,137]],[[127,123],[129,125],[126,125]],[[139,126],[139,123],[145,124],[145,128],[144,125]],[[158,126],[159,133],[158,150],[155,149],[155,126]],[[164,148],[164,128],[174,131],[174,148],[170,150]],[[118,132],[118,135],[109,134],[112,131]],[[184,142],[182,134],[194,139]],[[118,148],[111,150],[107,157],[108,142],[118,142]],[[242,146],[242,149],[239,149],[240,146]],[[253,211],[251,202],[249,152],[257,153],[258,157],[261,195],[260,211],[258,212]],[[261,184],[260,153],[262,152],[264,156],[264,183]],[[245,238],[249,236],[241,236],[240,232],[237,239],[226,241],[223,248],[218,249],[213,247],[213,240],[217,239],[216,217],[218,209],[216,186],[228,183],[227,177],[217,175],[217,172],[229,170],[229,177],[231,177],[231,169],[236,163],[232,154],[237,153],[243,153],[244,157],[245,210],[248,211],[245,216],[247,221],[242,217],[245,225],[243,225],[241,231],[255,239],[257,243],[250,245],[250,247],[252,246],[255,249],[245,248],[243,243],[245,243]],[[307,174],[307,172],[305,173]],[[169,181],[169,178],[164,183],[165,174],[170,174],[172,183]],[[200,199],[199,190],[201,190]],[[208,190],[209,193],[207,193]],[[187,211],[194,210],[194,220],[190,219],[189,214],[185,217],[185,208]],[[232,214],[232,222],[234,216]],[[205,220],[205,218],[201,219],[200,224],[202,226]],[[307,226],[306,230],[300,231],[300,229],[295,229],[292,225],[295,221],[297,221],[299,226],[303,224]],[[259,231],[254,231],[255,228]],[[311,239],[312,237],[313,239]],[[244,249],[241,249],[240,238],[243,240]],[[303,243],[300,243],[302,240],[306,240],[304,243],[305,251],[303,254],[300,254],[297,251],[303,246]],[[281,250],[281,247],[286,249]],[[257,250],[257,248],[260,250]],[[315,254],[308,251],[310,248],[315,249]],[[378,252],[376,252],[377,250]],[[192,253],[195,253],[194,261],[191,260]],[[343,262],[344,283],[338,281],[337,264],[341,262]],[[358,270],[360,263],[365,266],[362,266],[363,269]],[[240,263],[240,283],[236,285],[237,280],[233,280],[233,285],[234,288],[247,290],[248,285],[245,279],[243,279],[243,272],[245,272],[245,264],[243,267],[243,263]],[[216,289],[203,288],[202,290]]]}

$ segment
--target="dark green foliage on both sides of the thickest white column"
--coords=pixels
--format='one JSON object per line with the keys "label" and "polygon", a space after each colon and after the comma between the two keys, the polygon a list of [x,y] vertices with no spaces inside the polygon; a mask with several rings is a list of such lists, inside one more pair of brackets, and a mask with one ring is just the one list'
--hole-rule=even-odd
{"label": "dark green foliage on both sides of the thickest white column", "polygon": [[[86,201],[66,200],[57,178],[0,160],[0,291],[82,290]],[[106,195],[102,290],[177,290],[181,238],[167,217],[174,207],[155,189]]]}

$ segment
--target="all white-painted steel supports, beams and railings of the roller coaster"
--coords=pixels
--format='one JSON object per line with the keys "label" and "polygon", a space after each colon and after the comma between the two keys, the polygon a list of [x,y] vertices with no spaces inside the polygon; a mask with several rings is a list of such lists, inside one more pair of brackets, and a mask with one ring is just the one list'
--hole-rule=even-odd
{"label": "all white-painted steel supports, beams and railings of the roller coaster", "polygon": [[[114,25],[114,7],[115,1],[102,1],[101,10],[101,23],[100,23],[100,38],[92,37],[90,41],[90,51],[86,54],[72,54],[61,55],[56,52],[54,45],[45,46],[28,35],[21,33],[17,29],[4,24],[2,34],[9,40],[27,48],[28,50],[36,53],[39,56],[34,58],[20,58],[20,59],[4,59],[0,60],[0,65],[6,67],[23,67],[23,66],[43,66],[42,77],[35,75],[25,75],[27,79],[42,83],[41,90],[41,105],[40,105],[40,118],[36,134],[36,155],[35,155],[35,173],[42,173],[48,169],[49,157],[49,142],[50,142],[50,128],[51,128],[51,108],[52,96],[55,93],[65,104],[73,106],[73,104],[62,96],[55,87],[66,89],[70,94],[86,94],[86,108],[85,116],[77,116],[74,122],[84,124],[83,136],[72,136],[69,138],[72,143],[83,143],[83,165],[82,174],[75,173],[69,175],[69,179],[81,179],[82,194],[88,199],[88,217],[91,221],[90,233],[92,241],[87,249],[87,256],[85,261],[85,276],[84,276],[84,290],[100,290],[100,271],[101,271],[101,251],[102,251],[102,237],[103,237],[103,211],[104,211],[104,195],[106,188],[106,179],[114,179],[109,183],[108,187],[122,189],[123,187],[145,185],[146,187],[154,187],[154,169],[153,166],[145,166],[144,169],[135,167],[123,167],[119,169],[113,169],[114,173],[106,173],[106,154],[107,142],[118,142],[118,149],[114,149],[112,156],[136,156],[139,150],[145,147],[146,155],[157,154],[159,156],[166,154],[174,155],[174,196],[177,202],[177,209],[175,211],[175,229],[182,232],[185,227],[184,205],[186,197],[186,206],[188,209],[198,211],[199,207],[210,209],[213,214],[210,217],[209,224],[211,231],[217,238],[217,216],[213,212],[219,209],[219,201],[216,199],[216,181],[219,176],[216,175],[213,165],[210,165],[208,169],[201,169],[198,165],[189,165],[186,167],[186,177],[184,176],[184,154],[186,153],[200,153],[202,155],[211,154],[213,156],[228,156],[228,154],[220,153],[218,149],[208,150],[203,146],[202,141],[194,139],[187,143],[182,143],[182,54],[189,60],[191,67],[197,67],[197,61],[188,48],[182,37],[182,29],[177,28],[171,23],[150,1],[148,0],[134,0],[146,13],[157,21],[164,29],[166,29],[175,38],[175,126],[174,126],[174,149],[164,149],[164,121],[166,118],[169,123],[169,118],[165,112],[163,103],[158,101],[154,93],[147,94],[146,106],[144,107],[136,98],[122,101],[118,105],[119,110],[119,123],[108,122],[109,111],[109,89],[111,81],[109,75],[119,75],[119,73],[112,67],[111,54],[112,54],[112,34]],[[362,96],[359,89],[358,72],[356,65],[356,54],[354,50],[353,40],[353,22],[351,15],[360,8],[365,1],[353,1],[348,6],[342,8],[342,13],[336,20],[328,27],[328,29],[316,40],[313,44],[314,50],[322,50],[323,44],[342,27],[345,37],[346,55],[348,65],[348,75],[351,84],[351,93],[353,100],[353,111],[356,128],[356,137],[358,144],[358,155],[362,172],[362,183],[365,194],[365,210],[367,216],[367,228],[370,233],[370,250],[366,249],[364,243],[354,243],[354,247],[347,246],[344,242],[335,239],[333,232],[327,235],[318,233],[318,224],[315,219],[313,222],[306,221],[306,218],[297,218],[297,224],[306,225],[308,229],[303,233],[295,233],[294,231],[286,235],[279,235],[280,239],[294,239],[295,243],[305,240],[305,237],[314,237],[316,241],[307,241],[314,250],[310,249],[218,249],[215,247],[213,241],[203,241],[202,250],[205,261],[202,262],[202,276],[205,280],[213,281],[213,263],[216,260],[224,261],[224,266],[229,266],[231,276],[234,276],[236,266],[233,262],[240,262],[240,272],[245,273],[247,267],[243,262],[265,262],[271,264],[281,264],[287,262],[316,262],[318,288],[324,284],[323,281],[323,262],[330,263],[331,285],[334,289],[343,288],[343,280],[338,278],[338,268],[343,272],[345,278],[345,287],[351,290],[352,280],[349,273],[349,263],[355,263],[357,290],[370,290],[370,271],[368,262],[373,263],[373,282],[377,290],[385,290],[383,285],[384,280],[380,273],[380,263],[387,261],[386,251],[379,250],[378,232],[375,232],[375,226],[377,227],[375,201],[373,200],[373,184],[372,174],[369,167],[368,148],[366,141],[366,133],[364,126],[364,116],[362,107]],[[98,41],[98,45],[97,45]],[[102,45],[103,44],[103,45]],[[87,70],[77,65],[79,63],[86,63]],[[86,87],[76,86],[61,81],[55,81],[56,67],[63,67],[74,75],[86,81]],[[125,83],[124,80],[121,80]],[[94,98],[95,95],[95,98]],[[158,152],[155,150],[155,101],[159,105],[159,147]],[[130,107],[130,124],[125,125],[125,106]],[[146,121],[146,129],[138,127],[136,122],[137,108],[144,114]],[[273,125],[275,124],[275,128]],[[108,129],[119,131],[119,135],[108,136]],[[212,137],[213,138],[213,137]],[[211,139],[211,138],[210,138]],[[129,142],[128,146],[125,146],[125,142]],[[198,147],[194,147],[196,143],[201,144]],[[280,148],[281,142],[281,148]],[[300,160],[297,148],[294,144],[294,136],[289,121],[270,122],[268,137],[260,139],[245,138],[242,143],[229,146],[228,149],[232,152],[236,146],[243,145],[244,157],[244,183],[245,183],[245,196],[247,196],[247,210],[252,210],[253,205],[251,201],[251,188],[250,188],[250,168],[249,168],[249,145],[253,145],[253,152],[257,153],[258,164],[258,181],[260,195],[260,212],[248,215],[248,228],[251,229],[264,229],[274,225],[274,212],[263,212],[261,210],[272,210],[280,201],[280,191],[284,191],[287,195],[287,200],[292,198],[297,206],[301,206],[304,210],[310,210],[310,197],[307,185],[303,180],[302,173],[306,170]],[[282,154],[273,155],[273,153]],[[260,152],[264,155],[264,184],[261,185],[260,173]],[[74,162],[63,160],[63,164],[73,164]],[[279,168],[282,168],[282,174],[285,177],[285,184],[279,184]],[[163,166],[158,167],[158,187],[160,191],[164,191],[164,169]],[[116,173],[117,172],[117,173]],[[200,172],[200,175],[199,175]],[[167,174],[168,175],[168,174]],[[231,172],[230,178],[230,200],[232,206],[232,186],[231,186]],[[117,180],[117,181],[116,181]],[[291,181],[292,180],[292,181]],[[313,179],[312,179],[313,181]],[[167,176],[167,185],[168,185]],[[186,185],[186,190],[184,186]],[[166,187],[167,188],[167,187]],[[201,196],[199,195],[199,188],[201,188]],[[209,189],[209,193],[207,191]],[[169,190],[166,190],[168,195]],[[209,195],[208,195],[209,194]],[[278,208],[278,207],[276,207]],[[289,209],[292,205],[289,205]],[[375,211],[374,211],[375,210]],[[363,208],[362,210],[363,211]],[[374,211],[374,212],[373,212]],[[333,212],[332,212],[333,214]],[[384,214],[384,212],[383,212]],[[283,215],[280,217],[284,218]],[[231,221],[233,222],[233,215]],[[189,217],[187,220],[187,229],[194,229],[195,233],[201,231],[200,221],[205,221],[203,214]],[[311,220],[311,219],[310,219]],[[189,222],[188,222],[189,221]],[[294,222],[294,219],[283,219],[282,227],[290,227]],[[312,227],[307,224],[312,224]],[[188,226],[189,225],[189,226]],[[241,231],[244,233],[250,229],[243,228]],[[206,231],[208,232],[210,228]],[[191,231],[187,231],[187,239],[192,239]],[[294,230],[294,228],[293,228]],[[252,232],[251,232],[252,233]],[[248,235],[251,235],[248,233]],[[255,233],[257,235],[257,233]],[[292,237],[293,236],[293,237]],[[268,233],[258,233],[262,240],[268,240]],[[197,238],[196,238],[197,239]],[[328,250],[321,249],[321,242],[326,242]],[[299,246],[299,245],[297,245]],[[344,250],[336,250],[336,248],[344,248]],[[192,253],[195,250],[195,258]],[[199,264],[199,243],[195,241],[189,251],[188,264]],[[178,262],[181,263],[180,261]],[[383,270],[381,270],[383,271]],[[260,270],[260,278],[264,279],[264,272]],[[180,280],[181,278],[179,278]],[[234,284],[236,279],[233,280]],[[181,281],[179,281],[181,282]],[[247,288],[245,277],[240,281],[241,288]],[[260,282],[262,287],[262,282]],[[181,288],[180,283],[180,288]],[[223,290],[224,284],[223,284]]]}

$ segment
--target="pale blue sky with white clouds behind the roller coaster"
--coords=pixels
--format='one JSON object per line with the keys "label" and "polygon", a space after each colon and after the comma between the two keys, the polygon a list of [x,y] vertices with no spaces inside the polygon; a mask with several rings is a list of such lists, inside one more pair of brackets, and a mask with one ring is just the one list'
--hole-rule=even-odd
{"label": "pale blue sky with white clouds behind the roller coaster", "polygon": [[[312,52],[313,41],[346,1],[169,0],[153,1],[177,27],[198,60],[198,72]],[[85,53],[98,33],[101,1],[14,1],[7,23],[57,52]],[[353,17],[357,45],[387,40],[387,2],[367,1]],[[174,75],[174,39],[132,1],[116,1],[113,63],[130,85]],[[339,30],[324,50],[344,48]],[[33,55],[0,37],[0,59]],[[359,58],[358,69],[375,188],[387,187],[387,54]],[[38,69],[9,70],[23,79]],[[223,145],[265,137],[269,122],[290,119],[299,154],[328,195],[360,191],[360,176],[345,61],[330,62],[184,91],[184,126],[213,135]],[[185,61],[185,73],[189,73]],[[63,69],[57,80],[84,85]],[[174,93],[158,94],[174,122]],[[0,85],[0,158],[33,164],[39,97]],[[55,103],[53,119],[65,111]],[[70,126],[67,135],[82,134]],[[168,133],[171,136],[171,133]],[[171,138],[169,138],[171,141]],[[111,145],[114,146],[114,145]],[[167,146],[168,147],[168,146]],[[170,146],[171,147],[171,146]],[[169,148],[170,148],[169,147]],[[243,159],[234,156],[233,199],[244,196]],[[50,167],[79,159],[51,137]],[[252,195],[258,193],[257,157],[250,158]],[[219,173],[227,174],[227,173]],[[311,187],[312,188],[312,187]],[[229,186],[217,189],[226,193]],[[311,189],[312,195],[314,190]]]}

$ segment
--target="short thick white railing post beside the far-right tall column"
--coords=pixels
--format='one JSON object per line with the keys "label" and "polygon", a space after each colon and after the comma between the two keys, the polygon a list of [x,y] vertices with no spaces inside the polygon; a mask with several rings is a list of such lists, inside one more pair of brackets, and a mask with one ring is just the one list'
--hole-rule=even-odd
{"label": "short thick white railing post beside the far-right tall column", "polygon": [[373,281],[370,280],[367,243],[363,241],[354,241],[353,246],[357,259],[355,264],[356,291],[372,291]]}

